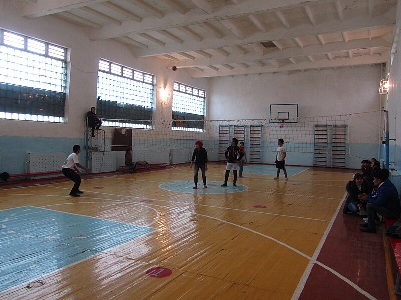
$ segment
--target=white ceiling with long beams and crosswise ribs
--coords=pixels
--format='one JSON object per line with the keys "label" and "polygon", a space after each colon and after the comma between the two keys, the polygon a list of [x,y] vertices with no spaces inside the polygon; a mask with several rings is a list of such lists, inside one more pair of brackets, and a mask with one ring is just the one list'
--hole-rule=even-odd
{"label": "white ceiling with long beams and crosswise ribs", "polygon": [[[388,61],[396,0],[12,0],[62,17],[192,77],[354,67]],[[265,45],[265,46],[264,46]]]}

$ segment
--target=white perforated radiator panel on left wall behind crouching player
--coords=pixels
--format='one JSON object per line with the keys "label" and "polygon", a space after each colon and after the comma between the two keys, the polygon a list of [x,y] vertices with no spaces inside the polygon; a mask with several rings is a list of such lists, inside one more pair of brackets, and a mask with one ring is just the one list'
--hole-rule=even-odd
{"label": "white perforated radiator panel on left wall behind crouching player", "polygon": [[[27,153],[27,172],[41,173],[61,171],[61,167],[66,160],[65,152],[38,152]],[[62,173],[29,176],[28,179],[40,179],[63,176]]]}

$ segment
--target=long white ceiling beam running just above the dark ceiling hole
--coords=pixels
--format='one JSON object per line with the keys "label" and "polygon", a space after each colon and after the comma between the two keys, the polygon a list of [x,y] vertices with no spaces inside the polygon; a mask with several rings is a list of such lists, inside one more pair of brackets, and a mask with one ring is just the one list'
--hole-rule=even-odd
{"label": "long white ceiling beam running just above the dark ceiling hole", "polygon": [[[362,17],[355,17],[353,19],[349,19],[344,22],[340,22],[338,20],[327,21],[326,23],[318,24],[316,26],[311,27],[310,25],[300,25],[294,27],[291,30],[287,30],[284,28],[278,28],[275,30],[270,30],[269,32],[256,32],[250,36],[245,37],[241,42],[237,38],[229,38],[225,37],[223,39],[210,39],[206,38],[202,42],[191,42],[184,43],[182,47],[180,47],[180,51],[182,52],[190,52],[194,50],[203,50],[210,48],[224,48],[224,47],[232,47],[241,44],[250,44],[250,43],[258,43],[264,42],[266,40],[277,42],[280,39],[291,39],[291,38],[301,38],[303,36],[310,35],[321,35],[321,34],[330,34],[337,33],[341,31],[352,31],[359,29],[366,29],[371,26],[379,27],[379,26],[393,26],[393,22],[395,22],[395,10],[387,11],[385,14],[370,18],[367,15]],[[276,45],[277,46],[277,45]],[[278,44],[280,48],[280,44]],[[166,53],[176,52],[176,48],[174,45],[166,45],[162,48],[152,48],[146,51],[138,50],[138,53],[135,54],[136,57],[139,56],[153,56],[153,55],[162,55]]]}

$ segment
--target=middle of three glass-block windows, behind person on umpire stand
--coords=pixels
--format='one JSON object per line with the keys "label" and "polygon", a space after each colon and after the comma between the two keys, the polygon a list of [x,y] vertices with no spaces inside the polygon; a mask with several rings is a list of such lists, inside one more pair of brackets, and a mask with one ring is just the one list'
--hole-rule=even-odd
{"label": "middle of three glass-block windows, behind person on umpire stand", "polygon": [[99,61],[97,113],[105,126],[151,129],[153,75]]}

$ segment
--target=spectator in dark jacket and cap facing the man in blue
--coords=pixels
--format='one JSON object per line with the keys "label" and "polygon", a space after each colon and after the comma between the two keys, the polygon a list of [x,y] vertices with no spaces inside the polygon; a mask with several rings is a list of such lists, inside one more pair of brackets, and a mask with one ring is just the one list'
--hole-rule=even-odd
{"label": "spectator in dark jacket and cap facing the man in blue", "polygon": [[349,214],[356,214],[359,208],[362,207],[362,202],[359,201],[358,195],[360,193],[369,194],[372,191],[369,183],[363,179],[361,173],[355,173],[353,180],[347,183],[346,190],[348,197],[342,211]]}

